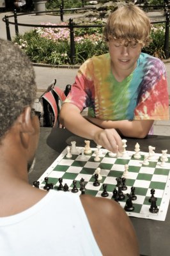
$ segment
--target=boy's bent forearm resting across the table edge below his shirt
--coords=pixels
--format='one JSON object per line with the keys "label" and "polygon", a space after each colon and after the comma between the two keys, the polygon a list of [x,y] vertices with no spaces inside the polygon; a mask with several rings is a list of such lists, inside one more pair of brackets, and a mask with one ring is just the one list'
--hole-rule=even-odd
{"label": "boy's bent forearm resting across the table edge below his shirt", "polygon": [[98,118],[86,117],[89,122],[103,129],[114,128],[123,136],[132,138],[144,138],[153,125],[153,120],[100,120]]}

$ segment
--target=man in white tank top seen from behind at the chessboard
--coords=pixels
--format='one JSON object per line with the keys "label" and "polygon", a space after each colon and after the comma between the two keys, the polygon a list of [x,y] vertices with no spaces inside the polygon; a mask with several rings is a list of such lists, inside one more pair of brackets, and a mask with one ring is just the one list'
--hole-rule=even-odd
{"label": "man in white tank top seen from behind at the chessboard", "polygon": [[1,255],[139,255],[132,223],[117,202],[29,184],[40,126],[35,74],[17,45],[0,39],[0,52]]}

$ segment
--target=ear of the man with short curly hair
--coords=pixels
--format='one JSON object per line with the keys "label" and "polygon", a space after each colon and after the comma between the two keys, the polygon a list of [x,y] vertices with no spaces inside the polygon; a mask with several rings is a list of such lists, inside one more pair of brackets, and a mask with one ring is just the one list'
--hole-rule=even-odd
{"label": "ear of the man with short curly hair", "polygon": [[27,106],[18,118],[20,124],[20,132],[33,133],[33,121],[31,119],[31,107]]}

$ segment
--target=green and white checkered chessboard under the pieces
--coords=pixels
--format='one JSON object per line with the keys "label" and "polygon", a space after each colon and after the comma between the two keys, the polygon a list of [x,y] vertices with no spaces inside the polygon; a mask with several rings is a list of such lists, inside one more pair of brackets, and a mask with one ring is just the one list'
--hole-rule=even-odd
{"label": "green and white checkered chessboard under the pieces", "polygon": [[[77,150],[81,152],[82,147],[77,147]],[[126,179],[127,190],[123,191],[125,195],[130,193],[130,188],[135,187],[135,195],[137,200],[133,201],[135,207],[134,211],[127,212],[128,216],[134,216],[138,218],[147,218],[153,220],[164,221],[166,219],[167,208],[170,198],[170,155],[167,154],[168,161],[161,166],[160,156],[162,154],[156,154],[148,166],[143,165],[143,159],[146,152],[141,152],[141,159],[135,159],[133,157],[134,152],[127,151],[126,157],[109,157],[108,151],[100,149],[100,162],[95,162],[95,150],[97,148],[91,148],[91,154],[86,155],[86,161],[81,160],[81,154],[72,154],[72,158],[66,158],[66,148],[59,155],[59,157],[51,164],[51,166],[43,173],[42,177],[38,179],[40,182],[40,188],[43,189],[45,184],[44,178],[49,177],[49,183],[54,184],[54,189],[58,188],[59,178],[63,178],[63,185],[66,183],[71,191],[73,187],[73,180],[77,180],[77,188],[80,188],[79,181],[84,178],[86,182],[86,194],[93,196],[101,196],[103,191],[102,184],[107,184],[107,192],[112,198],[112,191],[116,188],[116,177],[121,177],[125,170],[125,164],[128,164],[128,179]],[[102,180],[100,180],[100,186],[93,186],[94,173],[97,167],[101,168]],[[148,199],[151,196],[151,189],[155,189],[155,196],[157,197],[158,213],[151,213],[149,211],[150,202]],[[63,192],[65,193],[65,192]],[[78,192],[81,194],[81,191]],[[120,202],[120,205],[124,208],[125,200]]]}

